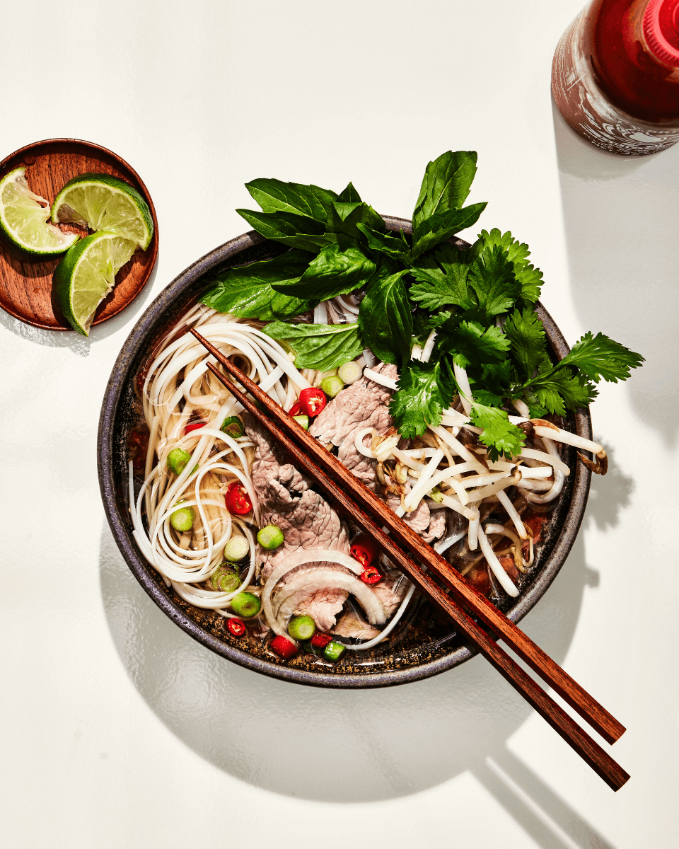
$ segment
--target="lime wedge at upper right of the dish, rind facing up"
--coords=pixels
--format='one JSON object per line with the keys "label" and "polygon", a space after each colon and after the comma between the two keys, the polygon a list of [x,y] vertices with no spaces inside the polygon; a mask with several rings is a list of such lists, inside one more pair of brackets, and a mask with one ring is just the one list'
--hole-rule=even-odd
{"label": "lime wedge at upper right of the dish, rind facing up", "polygon": [[142,250],[154,234],[151,211],[141,194],[110,174],[81,174],[69,180],[54,200],[52,220],[118,233]]}

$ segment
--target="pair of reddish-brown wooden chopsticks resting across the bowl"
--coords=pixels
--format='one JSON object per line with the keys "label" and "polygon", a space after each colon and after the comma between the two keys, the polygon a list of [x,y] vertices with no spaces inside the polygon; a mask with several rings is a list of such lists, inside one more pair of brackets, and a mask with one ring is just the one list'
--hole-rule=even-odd
{"label": "pair of reddish-brown wooden chopsticks resting across the bowl", "polygon": [[[367,486],[351,474],[326,448],[310,436],[283,408],[262,391],[247,375],[195,329],[191,333],[210,351],[233,381],[244,387],[241,391],[213,363],[208,368],[227,387],[250,415],[269,430],[306,475],[317,481],[330,500],[349,514],[379,543],[396,565],[418,585],[430,599],[452,618],[459,630],[474,643],[480,653],[521,694],[554,730],[589,764],[613,790],[620,790],[629,775],[602,747],[541,688],[533,678],[507,655],[489,633],[463,610],[471,610],[492,633],[504,640],[519,657],[549,684],[577,713],[608,743],[614,743],[625,728],[609,711],[593,699],[580,684],[558,666],[542,649],[497,610],[485,596],[477,593],[452,566],[435,552],[406,523]],[[245,394],[249,392],[260,407]],[[266,411],[266,412],[265,412]],[[384,530],[383,530],[384,529]],[[412,556],[411,556],[412,555]],[[450,598],[412,557],[426,564],[454,596]]]}

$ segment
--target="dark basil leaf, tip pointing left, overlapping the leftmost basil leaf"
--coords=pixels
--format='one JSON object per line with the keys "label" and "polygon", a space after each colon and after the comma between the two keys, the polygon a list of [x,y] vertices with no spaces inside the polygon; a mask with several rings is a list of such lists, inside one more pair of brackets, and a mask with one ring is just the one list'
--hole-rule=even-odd
{"label": "dark basil leaf, tip pointing left, overlapping the leftmost basil leaf", "polygon": [[328,245],[300,278],[278,281],[272,287],[283,295],[326,301],[366,285],[374,273],[374,262],[359,248],[349,246],[342,250],[340,245]]}

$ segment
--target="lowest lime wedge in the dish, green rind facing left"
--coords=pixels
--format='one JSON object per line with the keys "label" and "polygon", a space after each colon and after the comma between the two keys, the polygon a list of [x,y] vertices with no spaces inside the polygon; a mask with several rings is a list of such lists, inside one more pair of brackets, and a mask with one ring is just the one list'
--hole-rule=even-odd
{"label": "lowest lime wedge in the dish, green rind facing left", "polygon": [[81,239],[54,269],[53,292],[71,326],[89,335],[94,311],[113,289],[115,275],[137,245],[104,230]]}

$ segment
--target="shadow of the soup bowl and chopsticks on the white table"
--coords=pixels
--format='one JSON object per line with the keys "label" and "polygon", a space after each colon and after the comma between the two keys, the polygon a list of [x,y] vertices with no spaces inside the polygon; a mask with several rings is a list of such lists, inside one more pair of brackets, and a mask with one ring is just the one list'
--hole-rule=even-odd
{"label": "shadow of the soup bowl and chopsticks on the white table", "polygon": [[[588,520],[614,526],[611,502],[628,498],[629,486],[599,495],[600,486]],[[560,849],[566,834],[583,849],[592,840],[609,846],[508,750],[530,707],[480,658],[390,689],[300,687],[228,663],[177,628],[127,570],[107,526],[100,565],[104,610],[132,682],[179,739],[225,773],[287,796],[356,802],[408,796],[470,772],[538,845]],[[597,586],[580,538],[527,617],[530,635],[556,661],[569,649],[586,588]],[[596,694],[594,682],[581,683]]]}

